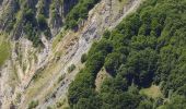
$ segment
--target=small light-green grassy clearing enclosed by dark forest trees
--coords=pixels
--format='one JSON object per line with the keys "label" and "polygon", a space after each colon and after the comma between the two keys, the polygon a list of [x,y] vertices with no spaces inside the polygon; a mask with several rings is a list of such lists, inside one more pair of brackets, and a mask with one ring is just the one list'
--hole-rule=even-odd
{"label": "small light-green grassy clearing enclosed by dark forest trees", "polygon": [[147,95],[148,97],[151,97],[151,98],[162,97],[162,93],[160,90],[160,87],[156,86],[156,85],[152,85],[149,88],[141,89],[140,94]]}

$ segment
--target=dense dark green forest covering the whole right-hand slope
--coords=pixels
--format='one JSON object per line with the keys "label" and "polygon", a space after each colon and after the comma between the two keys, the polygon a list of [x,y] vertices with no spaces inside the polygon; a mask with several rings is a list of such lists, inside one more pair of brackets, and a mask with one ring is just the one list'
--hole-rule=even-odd
{"label": "dense dark green forest covering the whole right-hand slope", "polygon": [[[83,57],[85,66],[70,84],[70,107],[185,109],[185,10],[186,0],[147,0],[114,31],[106,31]],[[112,77],[96,92],[103,68]]]}

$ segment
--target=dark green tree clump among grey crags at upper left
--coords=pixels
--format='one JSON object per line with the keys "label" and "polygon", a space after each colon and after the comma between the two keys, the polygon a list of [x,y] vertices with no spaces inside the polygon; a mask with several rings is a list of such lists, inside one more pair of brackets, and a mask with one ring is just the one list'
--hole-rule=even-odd
{"label": "dark green tree clump among grey crags at upper left", "polygon": [[44,14],[38,14],[36,17],[36,10],[34,8],[24,9],[24,25],[23,31],[26,34],[27,39],[33,41],[34,47],[43,46],[39,35],[44,32],[45,36],[50,37],[50,31],[47,25],[47,20]]}

